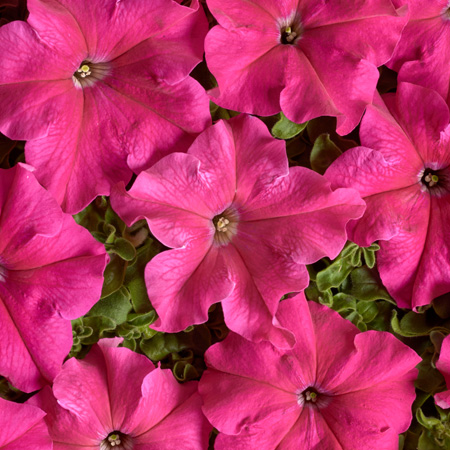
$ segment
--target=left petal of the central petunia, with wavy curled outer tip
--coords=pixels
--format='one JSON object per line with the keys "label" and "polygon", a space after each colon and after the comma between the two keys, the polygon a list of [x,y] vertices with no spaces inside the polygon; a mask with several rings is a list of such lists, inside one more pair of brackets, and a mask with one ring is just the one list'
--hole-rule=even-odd
{"label": "left petal of the central petunia, with wavy curled outer tip", "polygon": [[169,247],[181,247],[193,239],[211,242],[214,209],[220,204],[200,167],[191,155],[168,155],[142,172],[128,193],[123,185],[116,188],[111,204],[127,224],[146,218],[152,233]]}

